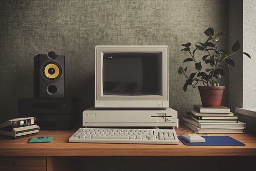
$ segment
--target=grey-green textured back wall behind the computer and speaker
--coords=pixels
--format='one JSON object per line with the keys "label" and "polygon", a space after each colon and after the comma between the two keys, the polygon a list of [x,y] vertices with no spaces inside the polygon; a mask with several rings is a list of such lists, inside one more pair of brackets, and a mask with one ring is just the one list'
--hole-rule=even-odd
{"label": "grey-green textured back wall behind the computer and speaker", "polygon": [[[96,45],[168,45],[170,107],[179,118],[199,104],[197,89],[183,91],[177,71],[188,53],[181,44],[204,42],[204,31],[228,32],[228,1],[1,1],[0,122],[17,117],[17,99],[33,96],[33,57],[53,50],[66,56],[65,95],[94,105]],[[227,35],[222,48],[227,48]],[[198,56],[202,57],[202,53]],[[189,64],[189,63],[187,63]],[[194,64],[189,64],[192,72]],[[223,105],[228,104],[227,77]]]}

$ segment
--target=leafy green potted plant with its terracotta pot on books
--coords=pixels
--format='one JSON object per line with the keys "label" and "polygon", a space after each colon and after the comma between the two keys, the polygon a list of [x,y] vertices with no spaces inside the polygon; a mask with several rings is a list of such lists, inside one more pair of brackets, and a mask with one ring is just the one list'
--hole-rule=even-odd
{"label": "leafy green potted plant with its terracotta pot on books", "polygon": [[[190,57],[185,59],[183,63],[194,62],[196,72],[187,75],[186,72],[188,67],[185,69],[179,67],[178,73],[187,78],[186,83],[183,86],[185,92],[187,91],[188,85],[192,85],[193,88],[198,87],[203,107],[220,107],[225,86],[219,86],[219,83],[215,80],[225,75],[226,66],[235,66],[234,61],[231,60],[230,57],[234,54],[238,54],[237,50],[240,48],[240,43],[237,40],[232,46],[231,52],[228,52],[228,50],[219,49],[217,46],[220,37],[224,34],[223,32],[214,36],[214,29],[208,28],[204,33],[208,36],[207,40],[205,43],[197,42],[195,44],[196,48],[193,51],[191,51],[190,48],[191,43],[182,44],[182,46],[185,47],[182,51],[186,51],[190,55]],[[200,62],[195,58],[197,50],[206,52],[206,54],[202,56]],[[248,53],[239,53],[243,53],[250,58]],[[202,62],[209,65],[205,71],[202,70]],[[199,82],[202,82],[203,86],[198,86]]]}

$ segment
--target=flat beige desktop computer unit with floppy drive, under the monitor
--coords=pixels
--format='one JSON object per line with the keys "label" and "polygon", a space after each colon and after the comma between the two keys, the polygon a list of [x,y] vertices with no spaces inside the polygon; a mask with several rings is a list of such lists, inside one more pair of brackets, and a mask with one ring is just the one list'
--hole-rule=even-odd
{"label": "flat beige desktop computer unit with floppy drive, under the monitor", "polygon": [[82,112],[83,127],[178,127],[178,112],[166,109],[96,109]]}

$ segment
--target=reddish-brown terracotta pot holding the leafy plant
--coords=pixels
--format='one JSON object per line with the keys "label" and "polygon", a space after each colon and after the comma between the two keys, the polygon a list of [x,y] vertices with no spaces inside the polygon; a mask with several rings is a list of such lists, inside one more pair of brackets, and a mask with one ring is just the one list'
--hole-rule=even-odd
{"label": "reddish-brown terracotta pot holding the leafy plant", "polygon": [[225,86],[198,86],[203,107],[220,107]]}

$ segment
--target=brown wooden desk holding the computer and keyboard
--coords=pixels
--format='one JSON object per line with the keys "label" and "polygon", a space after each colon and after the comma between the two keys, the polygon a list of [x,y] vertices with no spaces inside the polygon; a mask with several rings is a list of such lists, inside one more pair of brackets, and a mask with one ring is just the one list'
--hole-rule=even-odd
{"label": "brown wooden desk holding the computer and keyboard", "polygon": [[[182,124],[180,127],[188,128]],[[72,165],[70,164],[71,161],[77,165],[77,158],[75,157],[54,156],[253,156],[254,159],[256,156],[256,135],[252,133],[210,134],[230,136],[246,144],[245,146],[186,146],[181,141],[179,145],[68,143],[69,137],[78,128],[80,127],[75,127],[69,131],[40,131],[38,135],[32,136],[52,136],[53,140],[50,143],[29,144],[28,138],[31,137],[17,140],[1,137],[0,156],[2,157],[0,161],[6,164],[10,159],[17,159],[17,156],[26,156],[28,157],[27,160],[35,159],[40,160],[40,163],[46,163],[47,170],[52,170],[56,167],[59,168],[57,163],[61,159],[67,160],[68,165]],[[177,135],[179,136],[178,131]],[[20,158],[24,159],[24,157]]]}

